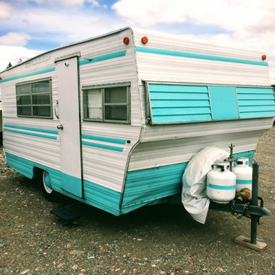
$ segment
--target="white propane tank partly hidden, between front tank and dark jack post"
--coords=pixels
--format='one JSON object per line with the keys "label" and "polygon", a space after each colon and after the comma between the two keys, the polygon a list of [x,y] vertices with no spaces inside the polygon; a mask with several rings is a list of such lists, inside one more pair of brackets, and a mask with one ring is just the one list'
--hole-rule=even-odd
{"label": "white propane tank partly hidden, between front tank and dark jack post", "polygon": [[232,172],[236,175],[236,192],[243,188],[252,190],[252,168],[248,164],[248,157],[240,157],[232,167]]}

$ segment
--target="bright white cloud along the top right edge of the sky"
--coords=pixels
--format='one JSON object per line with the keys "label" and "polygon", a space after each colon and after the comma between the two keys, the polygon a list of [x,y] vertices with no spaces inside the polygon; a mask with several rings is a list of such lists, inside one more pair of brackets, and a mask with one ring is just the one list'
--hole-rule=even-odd
{"label": "bright white cloud along the top right edge of the sky", "polygon": [[190,22],[219,25],[225,30],[273,28],[274,0],[120,0],[113,10],[143,27],[155,23]]}

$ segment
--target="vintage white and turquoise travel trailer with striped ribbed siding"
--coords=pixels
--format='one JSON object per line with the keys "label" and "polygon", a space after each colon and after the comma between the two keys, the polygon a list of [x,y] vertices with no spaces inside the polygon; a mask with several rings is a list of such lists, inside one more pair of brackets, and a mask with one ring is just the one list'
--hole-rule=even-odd
{"label": "vintage white and turquoise travel trailer with striped ribbed siding", "polygon": [[272,127],[265,53],[123,28],[1,72],[7,166],[115,215],[181,192],[206,146],[254,155]]}

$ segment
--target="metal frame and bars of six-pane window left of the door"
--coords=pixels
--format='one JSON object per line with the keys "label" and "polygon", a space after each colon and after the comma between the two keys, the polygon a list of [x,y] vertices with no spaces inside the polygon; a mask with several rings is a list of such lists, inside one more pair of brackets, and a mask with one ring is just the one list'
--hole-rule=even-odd
{"label": "metal frame and bars of six-pane window left of the door", "polygon": [[[40,93],[40,95],[49,95],[50,96],[50,104],[33,104],[32,103],[32,96],[33,95],[39,95],[39,94],[32,94],[32,83],[39,83],[39,82],[43,82],[43,81],[47,81],[49,80],[50,83],[50,91],[49,93]],[[23,94],[23,95],[17,95],[17,87],[21,86],[21,85],[30,85],[30,94]],[[52,112],[52,78],[39,78],[36,80],[28,80],[28,81],[24,81],[21,83],[16,83],[15,84],[15,96],[16,96],[16,102],[17,102],[17,98],[19,96],[30,96],[30,104],[17,104],[17,108],[18,107],[31,107],[31,115],[20,115],[18,114],[17,111],[17,117],[19,118],[44,118],[44,119],[53,119],[53,112]],[[50,106],[50,116],[45,116],[45,115],[34,115],[34,107],[48,107]]]}

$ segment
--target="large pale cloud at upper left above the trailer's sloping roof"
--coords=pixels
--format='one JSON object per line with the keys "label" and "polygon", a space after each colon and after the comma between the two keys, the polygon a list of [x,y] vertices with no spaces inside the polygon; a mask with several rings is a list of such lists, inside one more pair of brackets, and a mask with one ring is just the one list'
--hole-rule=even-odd
{"label": "large pale cloud at upper left above the trailer's sloping roof", "polygon": [[11,19],[2,21],[2,25],[17,32],[28,30],[32,36],[43,36],[43,40],[48,38],[64,45],[122,28],[125,24],[106,14],[88,13],[76,8],[28,8],[14,10]]}

